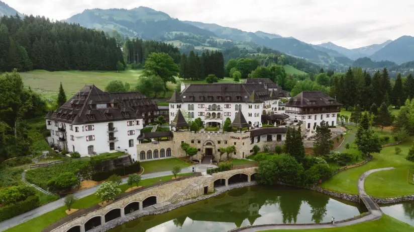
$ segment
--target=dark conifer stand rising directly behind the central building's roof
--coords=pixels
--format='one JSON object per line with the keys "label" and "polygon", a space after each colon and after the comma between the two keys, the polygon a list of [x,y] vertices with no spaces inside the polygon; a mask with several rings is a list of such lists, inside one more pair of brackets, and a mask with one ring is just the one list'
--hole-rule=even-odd
{"label": "dark conifer stand rising directly behind the central building's roof", "polygon": [[199,56],[194,51],[190,51],[188,57],[185,53],[181,56],[180,78],[191,80],[203,80],[208,75],[213,74],[219,79],[223,79],[224,58],[221,51],[209,52],[206,50]]}

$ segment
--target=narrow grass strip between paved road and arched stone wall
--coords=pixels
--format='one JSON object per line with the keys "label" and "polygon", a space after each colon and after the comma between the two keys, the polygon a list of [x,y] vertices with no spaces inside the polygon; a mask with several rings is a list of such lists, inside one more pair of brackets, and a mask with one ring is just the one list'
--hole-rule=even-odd
{"label": "narrow grass strip between paved road and arched stone wall", "polygon": [[[192,173],[186,173],[186,174],[179,174],[179,176],[188,176]],[[140,182],[140,186],[148,186],[152,184],[156,184],[157,182],[167,181],[170,180],[171,176],[165,176],[165,177],[157,177],[157,178],[151,178],[142,180]],[[124,184],[119,186],[122,190],[122,193],[125,192],[130,186]],[[95,194],[89,195],[84,198],[80,198],[76,200],[76,202],[73,204],[72,208],[74,209],[83,209],[88,208],[92,205],[95,205],[99,203],[100,200],[96,197]],[[5,230],[5,232],[22,232],[22,231],[30,231],[30,232],[40,232],[50,224],[60,220],[61,218],[65,217],[67,214],[65,213],[66,207],[62,206],[60,208],[57,208],[55,210],[52,210],[50,212],[47,212],[41,216],[38,216],[36,218],[33,218],[31,220],[28,220],[26,222],[23,222],[22,224],[19,224],[17,226],[14,226],[12,228],[9,228]]]}

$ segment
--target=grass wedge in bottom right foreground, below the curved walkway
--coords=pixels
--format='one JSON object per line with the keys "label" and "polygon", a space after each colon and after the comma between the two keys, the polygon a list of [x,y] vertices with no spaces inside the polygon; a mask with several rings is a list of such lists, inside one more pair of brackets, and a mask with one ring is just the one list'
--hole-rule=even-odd
{"label": "grass wedge in bottom right foreground, below the curved walkway", "polygon": [[263,230],[262,232],[410,232],[414,227],[393,217],[382,214],[381,219],[355,225],[326,229],[277,229]]}

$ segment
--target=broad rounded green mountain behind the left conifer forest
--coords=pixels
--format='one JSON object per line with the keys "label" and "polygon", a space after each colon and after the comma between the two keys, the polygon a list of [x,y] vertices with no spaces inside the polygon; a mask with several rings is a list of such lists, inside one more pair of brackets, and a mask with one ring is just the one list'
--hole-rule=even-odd
{"label": "broad rounded green mountain behind the left conifer forest", "polygon": [[86,28],[110,32],[117,30],[124,36],[163,40],[167,33],[216,36],[213,32],[183,23],[169,15],[147,7],[126,9],[85,10],[66,20]]}

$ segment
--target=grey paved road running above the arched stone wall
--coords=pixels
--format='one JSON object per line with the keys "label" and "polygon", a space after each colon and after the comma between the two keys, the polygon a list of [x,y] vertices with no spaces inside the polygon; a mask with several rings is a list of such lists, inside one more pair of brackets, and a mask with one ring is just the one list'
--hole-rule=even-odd
{"label": "grey paved road running above the arched stone wall", "polygon": [[[195,168],[195,172],[205,172],[208,168],[216,168],[217,167],[217,166],[214,166],[214,165],[193,165],[193,166]],[[193,166],[183,168],[181,170],[181,173],[191,173]],[[145,171],[144,171],[144,173],[145,173]],[[171,171],[158,172],[158,173],[149,173],[149,174],[143,174],[141,176],[141,179],[145,180],[145,179],[163,177],[163,176],[169,176],[169,175],[172,175]],[[128,178],[122,179],[123,184],[126,184],[127,181],[128,181]],[[81,190],[81,191],[78,191],[78,192],[74,193],[73,195],[78,199],[83,198],[83,197],[94,194],[98,187],[99,187],[99,185],[88,188],[88,189],[84,189],[84,190]],[[46,205],[42,205],[38,208],[35,208],[35,209],[33,209],[29,212],[26,212],[26,213],[20,214],[18,216],[15,216],[13,218],[10,218],[8,220],[2,221],[2,222],[0,222],[0,231],[6,230],[10,227],[16,226],[20,223],[23,223],[23,222],[27,221],[27,220],[38,217],[42,214],[45,214],[45,213],[50,212],[54,209],[57,209],[57,208],[59,208],[63,205],[65,205],[64,204],[64,198],[61,198],[59,200],[56,200],[56,201],[50,202]]]}

